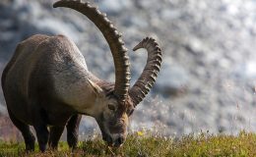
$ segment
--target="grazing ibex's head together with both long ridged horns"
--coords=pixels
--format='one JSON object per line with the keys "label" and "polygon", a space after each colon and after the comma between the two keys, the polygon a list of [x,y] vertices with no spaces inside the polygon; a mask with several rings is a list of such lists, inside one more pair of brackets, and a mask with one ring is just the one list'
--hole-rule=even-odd
{"label": "grazing ibex's head together with both long ridged horns", "polygon": [[56,2],[54,7],[72,8],[86,15],[102,32],[106,39],[115,66],[115,83],[93,81],[89,79],[96,93],[96,107],[92,116],[102,132],[103,139],[113,146],[120,146],[127,135],[128,117],[152,88],[160,72],[161,52],[159,44],[153,38],[143,39],[134,50],[146,48],[148,60],[146,67],[135,84],[130,86],[130,69],[127,49],[121,39],[121,34],[112,23],[101,14],[97,8],[89,3],[80,1],[62,0]]}

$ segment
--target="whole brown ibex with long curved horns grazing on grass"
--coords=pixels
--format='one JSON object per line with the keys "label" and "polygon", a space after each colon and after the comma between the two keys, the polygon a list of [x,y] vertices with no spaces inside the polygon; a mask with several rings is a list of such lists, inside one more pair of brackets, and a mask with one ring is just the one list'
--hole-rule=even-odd
{"label": "whole brown ibex with long curved horns grazing on grass", "polygon": [[[34,150],[36,132],[39,149],[57,148],[66,127],[67,141],[76,148],[81,115],[96,119],[102,139],[119,147],[127,136],[128,118],[160,72],[161,50],[146,37],[135,48],[145,48],[148,60],[143,73],[130,86],[127,49],[121,34],[97,8],[81,1],[61,0],[53,5],[74,9],[87,16],[102,32],[114,61],[115,82],[96,78],[73,41],[63,35],[36,34],[19,43],[2,75],[8,113],[22,132],[26,150]],[[48,130],[49,129],[49,130]]]}

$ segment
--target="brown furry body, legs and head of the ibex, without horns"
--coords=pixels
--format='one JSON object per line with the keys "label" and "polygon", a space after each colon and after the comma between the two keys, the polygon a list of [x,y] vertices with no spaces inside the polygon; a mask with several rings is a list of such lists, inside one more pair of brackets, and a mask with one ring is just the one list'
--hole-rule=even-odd
{"label": "brown furry body, legs and head of the ibex, without horns", "polygon": [[[93,76],[81,57],[74,43],[62,35],[34,35],[18,45],[4,70],[2,86],[10,118],[23,132],[27,150],[34,148],[34,137],[28,125],[36,131],[41,151],[45,150],[47,142],[57,148],[65,126],[68,143],[75,148],[79,114],[95,117],[103,138],[110,145],[118,146],[124,141],[127,111],[133,104],[119,102],[113,92],[114,84]],[[98,98],[88,78],[102,88],[103,97]],[[98,104],[95,104],[96,99]],[[115,105],[114,113],[108,111],[107,101]]]}

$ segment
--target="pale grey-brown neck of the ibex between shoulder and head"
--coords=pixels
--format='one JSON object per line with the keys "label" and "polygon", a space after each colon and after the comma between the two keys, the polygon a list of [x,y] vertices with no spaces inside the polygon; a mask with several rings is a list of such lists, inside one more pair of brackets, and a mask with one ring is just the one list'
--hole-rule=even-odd
{"label": "pale grey-brown neck of the ibex between shoulder and head", "polygon": [[[71,73],[73,72],[73,73]],[[90,85],[88,78],[100,82],[87,70],[71,70],[55,75],[54,88],[59,99],[72,107],[78,113],[91,115],[91,110],[96,103],[96,93]]]}

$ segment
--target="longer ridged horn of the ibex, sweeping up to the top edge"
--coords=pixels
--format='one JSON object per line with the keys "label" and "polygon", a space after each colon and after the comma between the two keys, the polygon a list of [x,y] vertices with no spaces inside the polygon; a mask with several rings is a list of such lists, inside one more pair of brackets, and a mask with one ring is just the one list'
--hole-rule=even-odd
{"label": "longer ridged horn of the ibex, sweeping up to the top edge", "polygon": [[112,23],[106,18],[105,14],[101,14],[96,7],[92,7],[90,3],[82,3],[78,1],[61,0],[53,4],[53,7],[66,7],[74,9],[87,16],[96,27],[102,32],[106,39],[115,66],[115,86],[114,93],[120,101],[124,101],[128,94],[130,86],[130,63],[127,55],[127,48],[121,39],[121,34],[116,30]]}

